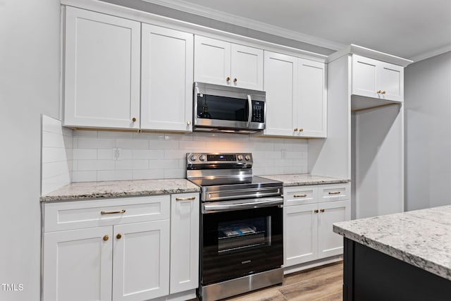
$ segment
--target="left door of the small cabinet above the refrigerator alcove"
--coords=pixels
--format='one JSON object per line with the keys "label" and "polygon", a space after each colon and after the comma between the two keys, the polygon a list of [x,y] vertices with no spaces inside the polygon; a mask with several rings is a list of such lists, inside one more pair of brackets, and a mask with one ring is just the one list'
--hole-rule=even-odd
{"label": "left door of the small cabinet above the refrigerator alcove", "polygon": [[378,98],[378,63],[364,56],[352,55],[352,94]]}

